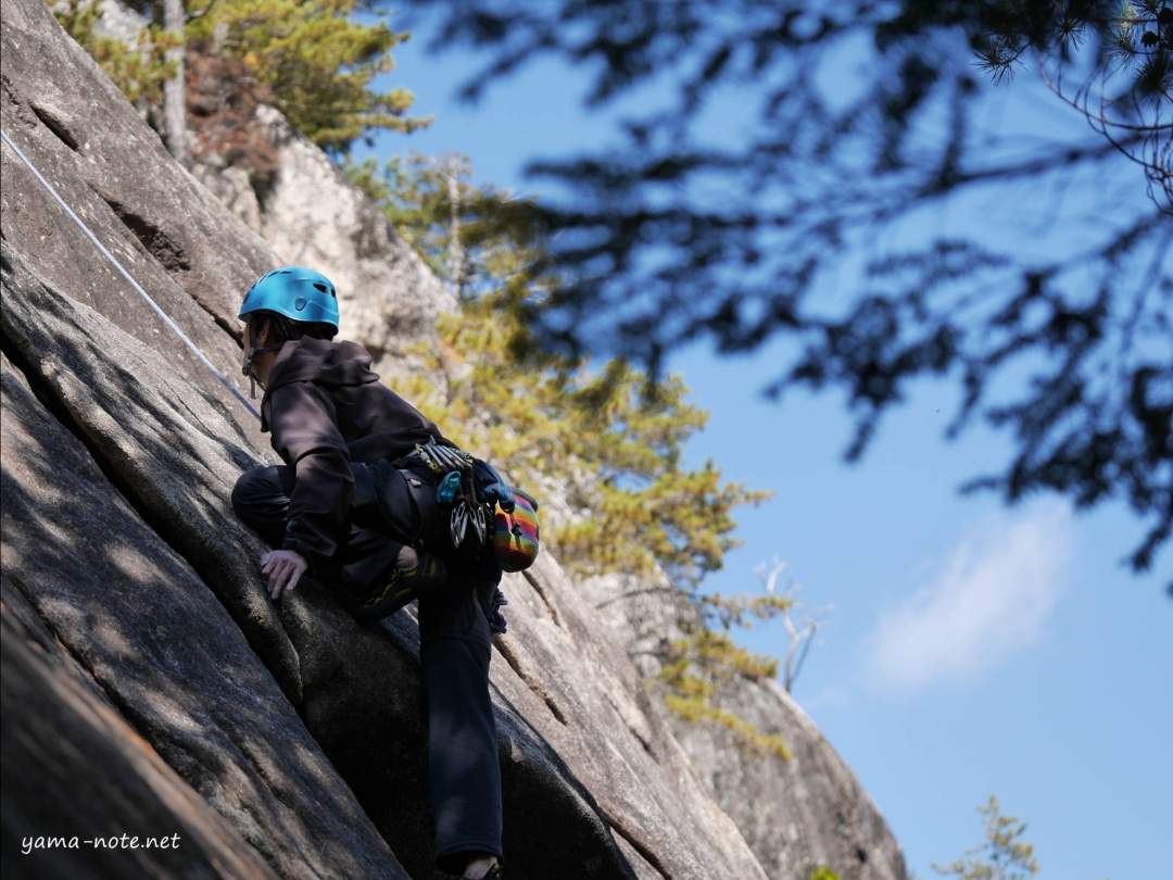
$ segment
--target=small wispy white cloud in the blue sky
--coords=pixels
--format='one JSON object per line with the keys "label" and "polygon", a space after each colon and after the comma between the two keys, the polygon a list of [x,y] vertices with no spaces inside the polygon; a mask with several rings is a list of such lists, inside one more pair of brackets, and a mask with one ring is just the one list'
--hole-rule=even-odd
{"label": "small wispy white cloud in the blue sky", "polygon": [[972,677],[1035,642],[1067,588],[1071,519],[1052,502],[971,529],[928,585],[881,615],[868,678],[918,690]]}

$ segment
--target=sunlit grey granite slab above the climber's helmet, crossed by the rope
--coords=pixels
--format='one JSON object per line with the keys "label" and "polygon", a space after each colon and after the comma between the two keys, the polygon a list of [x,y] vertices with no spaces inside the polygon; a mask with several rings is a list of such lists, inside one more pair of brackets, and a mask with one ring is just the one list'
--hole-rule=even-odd
{"label": "sunlit grey granite slab above the climber's helmet, crossed by the rope", "polygon": [[[274,265],[264,241],[171,160],[43,4],[5,4],[0,87],[8,136],[213,361],[236,363],[240,285]],[[42,250],[46,282],[156,344],[164,329],[155,316],[59,208],[45,207],[14,158],[5,153],[5,237]]]}

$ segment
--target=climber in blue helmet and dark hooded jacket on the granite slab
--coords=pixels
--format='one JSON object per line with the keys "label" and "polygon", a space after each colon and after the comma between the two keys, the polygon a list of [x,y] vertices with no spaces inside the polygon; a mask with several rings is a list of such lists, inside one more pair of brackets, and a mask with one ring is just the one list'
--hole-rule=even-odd
{"label": "climber in blue helmet and dark hooded jacket on the granite slab", "polygon": [[504,631],[501,568],[445,544],[436,510],[439,475],[472,459],[379,381],[362,346],[334,341],[338,317],[334,285],[310,269],[276,269],[245,295],[243,371],[264,388],[262,431],[285,463],[242,474],[232,506],[274,548],[260,557],[273,600],[307,571],[361,618],[418,598],[436,867],[500,880],[488,673],[490,632]]}

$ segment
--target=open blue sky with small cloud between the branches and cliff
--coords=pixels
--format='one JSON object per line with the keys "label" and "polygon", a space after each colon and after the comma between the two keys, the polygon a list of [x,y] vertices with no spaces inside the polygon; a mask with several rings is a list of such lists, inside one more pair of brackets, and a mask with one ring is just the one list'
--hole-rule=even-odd
{"label": "open blue sky with small cloud between the branches and cliff", "polygon": [[[430,56],[425,42],[396,49],[387,84],[408,87],[415,111],[435,122],[381,136],[374,155],[462,153],[479,182],[541,195],[521,176],[527,160],[608,141],[610,116],[579,104],[583,72],[542,62],[468,106],[454,90],[476,61]],[[1042,119],[1067,124],[1023,87],[988,123]],[[916,222],[963,229],[965,219],[955,210]],[[1008,509],[989,494],[960,495],[1010,446],[984,428],[947,444],[948,384],[917,386],[866,458],[845,465],[850,420],[834,393],[781,404],[758,393],[788,352],[775,341],[718,359],[696,345],[671,364],[712,414],[690,460],[713,459],[730,479],[775,493],[740,513],[744,546],[711,585],[755,589],[759,564],[788,563],[800,600],[825,617],[795,696],[879,805],[909,867],[934,876],[930,861],[977,844],[976,807],[996,793],[1028,820],[1044,880],[1166,875],[1169,551],[1158,557],[1164,569],[1137,577],[1120,566],[1140,536],[1123,505],[1077,514],[1053,496]],[[784,635],[767,627],[739,641],[777,654]]]}

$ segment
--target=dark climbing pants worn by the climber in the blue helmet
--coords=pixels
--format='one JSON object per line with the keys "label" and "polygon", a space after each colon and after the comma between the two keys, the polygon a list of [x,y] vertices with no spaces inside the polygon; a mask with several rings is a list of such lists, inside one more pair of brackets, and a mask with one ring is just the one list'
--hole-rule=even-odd
{"label": "dark climbing pants worn by the climber in the blue helmet", "polygon": [[[271,546],[285,535],[294,472],[255,467],[232,489],[232,507]],[[379,532],[377,515],[352,517],[334,557],[313,561],[323,580],[375,589],[402,544]],[[501,847],[501,766],[489,700],[489,624],[479,595],[500,575],[449,564],[448,583],[419,600],[420,659],[428,703],[428,798],[436,819],[438,866],[460,874],[465,853]]]}

